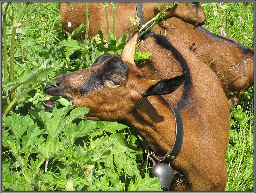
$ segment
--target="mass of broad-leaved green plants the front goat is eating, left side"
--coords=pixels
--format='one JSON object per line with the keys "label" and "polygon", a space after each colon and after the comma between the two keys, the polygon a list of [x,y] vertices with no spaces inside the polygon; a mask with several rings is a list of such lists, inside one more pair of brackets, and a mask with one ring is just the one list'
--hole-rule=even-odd
{"label": "mass of broad-leaved green plants the front goat is eating, left side", "polygon": [[[4,6],[3,190],[162,190],[157,178],[149,177],[148,168],[141,170],[144,157],[139,136],[127,126],[84,120],[89,108],[73,109],[65,98],[55,97],[50,111],[42,105],[47,100],[44,85],[55,85],[54,75],[90,67],[105,53],[120,56],[127,35],[116,40],[110,34],[106,42],[99,30],[89,40],[71,39],[83,31],[81,25],[67,34],[68,39],[60,31],[59,38],[49,38],[42,45],[42,36],[32,29],[47,30],[46,19],[41,18],[40,25],[13,26],[14,20],[22,23],[37,17],[26,12],[39,5]],[[19,6],[24,6],[21,12]],[[136,51],[134,58],[140,61],[150,55]]]}

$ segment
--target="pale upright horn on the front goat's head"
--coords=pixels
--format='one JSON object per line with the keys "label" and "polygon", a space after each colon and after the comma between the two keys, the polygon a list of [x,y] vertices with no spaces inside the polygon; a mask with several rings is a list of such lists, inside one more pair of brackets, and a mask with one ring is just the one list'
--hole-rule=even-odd
{"label": "pale upright horn on the front goat's head", "polygon": [[135,45],[136,45],[138,36],[139,36],[139,30],[136,30],[127,41],[126,45],[124,46],[123,52],[121,54],[121,59],[123,61],[134,63]]}

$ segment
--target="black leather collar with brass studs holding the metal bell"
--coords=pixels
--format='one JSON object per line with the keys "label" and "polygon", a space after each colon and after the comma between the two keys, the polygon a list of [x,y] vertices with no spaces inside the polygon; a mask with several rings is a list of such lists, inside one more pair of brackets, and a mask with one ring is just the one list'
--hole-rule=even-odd
{"label": "black leather collar with brass studs holding the metal bell", "polygon": [[[156,161],[158,163],[165,163],[165,164],[171,164],[172,161],[177,158],[177,156],[180,153],[182,144],[183,144],[183,122],[182,122],[182,117],[180,115],[180,112],[178,109],[172,108],[172,112],[174,114],[174,119],[175,119],[175,127],[176,127],[176,134],[175,134],[175,139],[172,145],[172,149],[166,153],[163,157],[158,156],[156,153],[151,153],[150,155],[150,148],[148,146],[148,155],[150,156],[151,160],[153,161],[153,165],[156,164]],[[156,160],[156,161],[155,161]]]}

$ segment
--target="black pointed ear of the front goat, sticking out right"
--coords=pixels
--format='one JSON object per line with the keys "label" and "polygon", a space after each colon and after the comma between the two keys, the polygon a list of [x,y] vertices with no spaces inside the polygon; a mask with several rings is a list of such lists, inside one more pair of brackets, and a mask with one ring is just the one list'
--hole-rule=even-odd
{"label": "black pointed ear of the front goat, sticking out right", "polygon": [[142,96],[170,94],[178,89],[184,81],[184,75],[158,81],[156,84],[150,86],[148,90],[142,94]]}

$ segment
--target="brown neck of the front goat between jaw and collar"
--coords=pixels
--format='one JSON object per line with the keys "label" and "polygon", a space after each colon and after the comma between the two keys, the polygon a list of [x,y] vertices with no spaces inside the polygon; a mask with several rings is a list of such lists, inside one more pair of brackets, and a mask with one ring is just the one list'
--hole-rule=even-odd
{"label": "brown neck of the front goat between jaw and collar", "polygon": [[125,123],[136,130],[161,156],[171,150],[175,137],[175,119],[168,104],[161,96],[149,96],[139,103]]}

